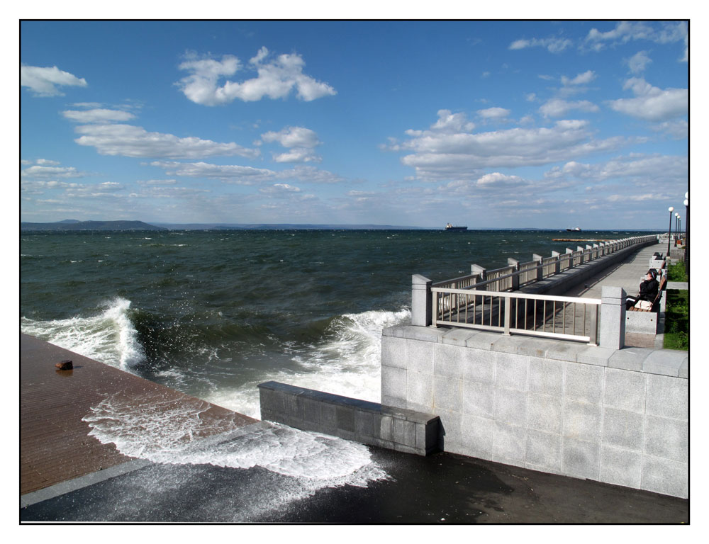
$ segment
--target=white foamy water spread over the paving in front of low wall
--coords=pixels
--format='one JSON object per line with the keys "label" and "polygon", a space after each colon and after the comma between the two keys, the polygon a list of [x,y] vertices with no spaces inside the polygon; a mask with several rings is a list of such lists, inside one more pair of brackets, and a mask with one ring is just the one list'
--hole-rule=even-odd
{"label": "white foamy water spread over the paving in front of low wall", "polygon": [[229,419],[203,418],[208,407],[199,399],[177,403],[113,395],[91,407],[83,420],[91,427],[89,435],[130,457],[176,465],[259,466],[293,478],[274,504],[323,487],[367,487],[388,478],[362,444],[268,422],[240,427]]}

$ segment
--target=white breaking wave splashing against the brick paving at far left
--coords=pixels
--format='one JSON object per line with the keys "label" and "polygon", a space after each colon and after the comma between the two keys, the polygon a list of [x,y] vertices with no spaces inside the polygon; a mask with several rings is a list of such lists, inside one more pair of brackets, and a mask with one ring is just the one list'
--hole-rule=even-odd
{"label": "white breaking wave splashing against the brick paving at far left", "polygon": [[130,370],[145,358],[128,317],[130,300],[116,297],[91,317],[38,321],[23,317],[21,331],[101,363]]}

